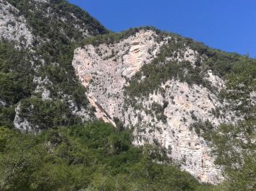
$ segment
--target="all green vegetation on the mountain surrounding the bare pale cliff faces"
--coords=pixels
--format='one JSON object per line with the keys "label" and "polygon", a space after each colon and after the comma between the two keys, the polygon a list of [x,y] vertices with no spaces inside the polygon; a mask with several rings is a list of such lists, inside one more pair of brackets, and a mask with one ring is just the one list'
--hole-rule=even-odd
{"label": "all green vegetation on the mountain surrounding the bare pale cliff faces", "polygon": [[[0,38],[0,190],[256,190],[255,59],[153,27],[110,32],[64,0],[1,0],[0,4],[7,2],[19,10],[11,9],[10,14],[25,17],[33,43],[23,45],[22,37],[20,42]],[[121,110],[135,107],[166,124],[164,110],[173,103],[153,102],[145,108],[137,99],[157,91],[164,95],[162,84],[172,79],[205,87],[221,102],[229,102],[224,109],[241,119],[233,125],[215,128],[209,121],[197,120],[193,112],[188,114],[197,122],[187,128],[206,141],[215,164],[223,168],[225,180],[220,185],[204,184],[183,171],[158,140],[133,145],[134,130],[143,131],[139,123],[124,127],[114,117],[115,128],[96,120],[87,89],[72,67],[74,50],[111,46],[141,30],[153,30],[157,43],[166,43],[150,63],[127,78]],[[195,66],[179,61],[187,48],[198,53]],[[208,71],[225,81],[226,88],[220,91],[210,84],[205,78]],[[220,111],[213,115],[219,117]],[[150,134],[158,129],[153,128],[147,129]]]}

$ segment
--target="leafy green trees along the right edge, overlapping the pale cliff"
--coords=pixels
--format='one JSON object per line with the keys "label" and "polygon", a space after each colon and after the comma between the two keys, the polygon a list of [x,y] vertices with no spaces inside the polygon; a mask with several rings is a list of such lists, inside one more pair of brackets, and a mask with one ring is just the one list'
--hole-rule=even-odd
{"label": "leafy green trees along the right edge, overlapping the pale cliff", "polygon": [[236,125],[221,124],[219,128],[209,125],[193,124],[200,136],[209,141],[216,164],[223,166],[227,181],[223,190],[255,190],[256,184],[256,108],[253,105],[256,89],[256,62],[242,57],[235,62],[231,72],[226,75],[226,91],[222,96],[229,99],[231,109],[244,120]]}

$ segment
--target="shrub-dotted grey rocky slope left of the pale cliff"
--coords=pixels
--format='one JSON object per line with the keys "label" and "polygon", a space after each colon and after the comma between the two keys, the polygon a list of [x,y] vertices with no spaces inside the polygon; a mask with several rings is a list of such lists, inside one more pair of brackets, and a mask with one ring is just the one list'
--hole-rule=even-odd
{"label": "shrub-dotted grey rocky slope left of the pale cliff", "polygon": [[[0,113],[15,111],[15,115],[7,116],[2,124],[13,120],[14,123],[8,122],[8,125],[35,132],[51,128],[51,125],[45,127],[38,115],[39,110],[44,110],[42,104],[51,105],[54,110],[58,110],[59,105],[65,108],[54,111],[56,115],[50,117],[59,121],[59,125],[70,123],[67,116],[78,117],[78,123],[93,119],[93,107],[70,63],[79,40],[108,30],[87,12],[66,1],[1,0],[0,9],[1,59],[12,58],[1,66],[1,72],[8,78],[17,76],[20,81],[17,89],[25,92],[20,96],[20,93],[13,94],[8,85],[2,87],[0,100],[5,107],[1,107]],[[8,83],[16,81],[10,79]],[[34,97],[39,98],[37,102]],[[62,112],[62,117],[56,119],[58,112]]]}

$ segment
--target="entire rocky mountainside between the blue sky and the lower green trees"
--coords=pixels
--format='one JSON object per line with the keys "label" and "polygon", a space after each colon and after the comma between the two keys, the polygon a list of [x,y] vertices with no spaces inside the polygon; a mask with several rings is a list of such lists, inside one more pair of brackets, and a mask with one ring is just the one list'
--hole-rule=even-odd
{"label": "entire rocky mountainside between the blue sky and the lower green trees", "polygon": [[[254,59],[152,27],[112,33],[62,0],[0,0],[0,37],[0,126],[38,133],[103,119],[213,184],[225,178],[213,135],[255,144]],[[222,124],[238,129],[216,133]]]}

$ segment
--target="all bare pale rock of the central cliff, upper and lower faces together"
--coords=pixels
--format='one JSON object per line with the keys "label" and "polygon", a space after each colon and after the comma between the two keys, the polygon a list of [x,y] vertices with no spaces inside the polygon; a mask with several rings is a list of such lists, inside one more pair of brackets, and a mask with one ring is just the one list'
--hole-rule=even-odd
{"label": "all bare pale rock of the central cliff, upper and lower faces together", "polygon": [[[125,101],[124,88],[129,86],[128,80],[143,64],[155,58],[166,41],[157,43],[155,32],[140,30],[112,45],[77,48],[72,66],[81,83],[88,87],[88,97],[96,106],[98,118],[113,123],[113,118],[119,117],[127,127],[135,127],[135,145],[157,142],[168,150],[171,159],[181,164],[182,169],[201,182],[216,184],[223,179],[221,166],[213,164],[214,156],[210,155],[207,142],[189,127],[206,120],[213,127],[231,123],[234,114],[223,110],[226,103],[221,103],[210,89],[174,79],[162,84],[164,92],[135,97],[135,105],[139,107]],[[187,47],[184,54],[166,59],[189,61],[194,67],[197,55],[197,51]],[[204,79],[217,90],[225,87],[223,80],[212,71],[208,71]],[[159,108],[161,112],[157,111]]]}

